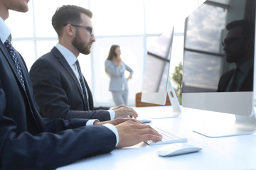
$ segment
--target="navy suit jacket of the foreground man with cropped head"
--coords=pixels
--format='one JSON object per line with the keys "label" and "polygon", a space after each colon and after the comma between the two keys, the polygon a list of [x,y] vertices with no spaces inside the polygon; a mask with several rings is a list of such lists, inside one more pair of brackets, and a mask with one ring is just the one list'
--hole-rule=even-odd
{"label": "navy suit jacket of the foreground man with cropped head", "polygon": [[105,126],[41,118],[26,65],[18,57],[26,90],[0,41],[0,169],[55,169],[114,149],[116,137]]}

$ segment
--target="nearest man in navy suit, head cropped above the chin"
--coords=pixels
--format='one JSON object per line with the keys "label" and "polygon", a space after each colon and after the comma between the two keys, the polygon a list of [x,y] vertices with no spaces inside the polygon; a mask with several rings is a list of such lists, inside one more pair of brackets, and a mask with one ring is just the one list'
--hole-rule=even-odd
{"label": "nearest man in navy suit, head cropped above the chin", "polygon": [[0,169],[55,169],[115,147],[161,140],[137,120],[86,126],[90,120],[41,118],[25,62],[7,40],[11,31],[4,22],[9,10],[28,11],[28,0],[0,0],[0,9]]}

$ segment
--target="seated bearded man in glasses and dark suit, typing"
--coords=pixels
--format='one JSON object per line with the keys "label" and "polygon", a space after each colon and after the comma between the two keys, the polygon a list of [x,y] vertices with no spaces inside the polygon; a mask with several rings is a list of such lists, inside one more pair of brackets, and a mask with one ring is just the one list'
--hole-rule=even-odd
{"label": "seated bearded man in glasses and dark suit, typing", "polygon": [[[90,54],[92,42],[95,42],[90,18],[92,13],[89,10],[81,12],[76,8],[60,8],[53,15],[52,24],[59,42],[50,52],[40,57],[30,70],[41,115],[63,119],[137,118],[137,113],[128,106],[117,106],[112,110],[109,107],[93,106],[90,88],[82,74],[79,74],[80,65],[76,63],[80,53]],[[81,82],[85,84],[84,89]]]}

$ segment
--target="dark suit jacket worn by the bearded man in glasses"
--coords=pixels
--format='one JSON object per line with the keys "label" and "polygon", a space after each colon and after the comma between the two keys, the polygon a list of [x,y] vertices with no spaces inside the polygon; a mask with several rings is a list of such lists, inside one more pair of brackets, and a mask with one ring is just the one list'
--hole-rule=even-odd
{"label": "dark suit jacket worn by the bearded man in glasses", "polygon": [[110,120],[109,108],[93,106],[92,93],[85,81],[90,105],[90,111],[87,111],[78,79],[56,47],[36,60],[30,74],[36,103],[43,117]]}

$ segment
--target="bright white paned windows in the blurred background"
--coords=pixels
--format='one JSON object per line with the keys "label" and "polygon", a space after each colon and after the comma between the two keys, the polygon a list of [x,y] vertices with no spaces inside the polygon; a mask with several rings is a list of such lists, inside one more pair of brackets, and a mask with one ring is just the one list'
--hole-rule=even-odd
{"label": "bright white paned windows in the blurred background", "polygon": [[6,23],[12,28],[12,43],[29,70],[38,57],[58,42],[51,25],[56,8],[73,4],[90,9],[96,42],[90,55],[80,55],[78,60],[95,106],[114,106],[108,90],[110,77],[104,67],[113,44],[120,45],[122,60],[134,70],[128,83],[128,105],[135,106],[135,94],[142,91],[147,44],[174,26],[170,68],[174,74],[175,67],[183,62],[185,19],[202,3],[203,0],[31,0],[27,13],[10,11]]}

